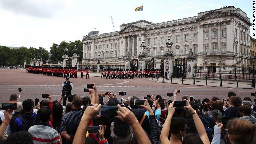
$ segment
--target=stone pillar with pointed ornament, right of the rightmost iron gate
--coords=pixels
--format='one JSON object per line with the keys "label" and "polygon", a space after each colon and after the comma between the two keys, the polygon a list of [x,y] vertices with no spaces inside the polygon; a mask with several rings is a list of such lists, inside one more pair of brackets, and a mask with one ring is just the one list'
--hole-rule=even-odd
{"label": "stone pillar with pointed ornament, right of the rightmost iron gate", "polygon": [[194,65],[195,65],[195,57],[193,57],[192,48],[190,48],[189,56],[187,57],[187,78],[194,77]]}

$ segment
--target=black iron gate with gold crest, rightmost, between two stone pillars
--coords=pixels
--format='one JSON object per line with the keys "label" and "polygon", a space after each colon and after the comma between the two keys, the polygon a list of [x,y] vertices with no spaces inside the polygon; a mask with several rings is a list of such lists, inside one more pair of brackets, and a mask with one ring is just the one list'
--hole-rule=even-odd
{"label": "black iron gate with gold crest, rightmost, between two stone pillars", "polygon": [[173,62],[172,68],[173,77],[186,78],[187,74],[187,60],[183,58],[177,58]]}

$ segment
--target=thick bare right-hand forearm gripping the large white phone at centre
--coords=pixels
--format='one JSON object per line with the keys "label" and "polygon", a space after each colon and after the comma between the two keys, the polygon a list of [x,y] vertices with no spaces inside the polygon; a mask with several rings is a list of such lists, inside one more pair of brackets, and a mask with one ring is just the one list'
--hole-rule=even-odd
{"label": "thick bare right-hand forearm gripping the large white phone at centre", "polygon": [[135,133],[135,136],[137,138],[138,144],[149,144],[151,143],[147,134],[141,127],[139,121],[135,117],[135,115],[130,111],[129,109],[125,107],[121,107],[119,104],[117,105],[120,109],[120,111],[117,111],[120,117],[118,117],[120,120],[128,123],[132,126],[132,129]]}

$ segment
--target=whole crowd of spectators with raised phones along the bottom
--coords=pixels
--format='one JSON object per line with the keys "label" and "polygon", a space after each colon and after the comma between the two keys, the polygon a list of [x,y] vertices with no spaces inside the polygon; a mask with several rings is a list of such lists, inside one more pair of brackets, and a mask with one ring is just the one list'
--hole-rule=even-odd
{"label": "whole crowd of spectators with raised phones along the bottom", "polygon": [[[255,144],[256,106],[250,97],[241,100],[234,92],[227,99],[217,96],[189,101],[188,96],[159,103],[160,95],[151,95],[145,105],[134,105],[139,98],[129,96],[122,103],[115,94],[103,91],[98,96],[94,84],[90,97],[69,95],[53,101],[51,95],[35,105],[32,99],[18,102],[16,94],[10,103],[15,110],[0,111],[0,144]],[[104,103],[104,98],[108,98]],[[256,100],[256,93],[254,96]],[[184,101],[183,107],[175,107]],[[101,106],[118,106],[118,116],[100,117]],[[88,126],[99,126],[97,134]]]}

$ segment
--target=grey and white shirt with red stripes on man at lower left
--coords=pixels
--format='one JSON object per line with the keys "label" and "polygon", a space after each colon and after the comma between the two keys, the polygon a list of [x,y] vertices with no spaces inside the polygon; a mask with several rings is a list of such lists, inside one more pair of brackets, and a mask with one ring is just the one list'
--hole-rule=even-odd
{"label": "grey and white shirt with red stripes on man at lower left", "polygon": [[31,126],[28,133],[33,136],[34,144],[59,144],[58,132],[51,128],[50,125],[39,123],[38,125]]}

